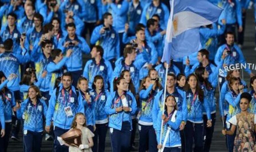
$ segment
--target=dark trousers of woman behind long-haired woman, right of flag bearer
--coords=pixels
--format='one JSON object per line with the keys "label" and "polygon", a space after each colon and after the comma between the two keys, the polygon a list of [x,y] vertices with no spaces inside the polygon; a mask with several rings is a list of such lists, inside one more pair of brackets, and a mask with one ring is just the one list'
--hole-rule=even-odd
{"label": "dark trousers of woman behind long-haired woman, right of flag bearer", "polygon": [[203,115],[204,119],[204,128],[205,128],[205,145],[204,145],[204,152],[209,152],[211,147],[211,140],[213,138],[213,132],[214,132],[214,126],[215,126],[215,120],[216,120],[216,113],[211,114],[212,119],[212,126],[210,128],[207,127],[207,116]]}

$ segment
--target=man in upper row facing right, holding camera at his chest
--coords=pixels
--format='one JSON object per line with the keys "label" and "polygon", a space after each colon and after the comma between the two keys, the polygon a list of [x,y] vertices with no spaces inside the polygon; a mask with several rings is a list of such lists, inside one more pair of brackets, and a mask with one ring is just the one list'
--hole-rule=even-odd
{"label": "man in upper row facing right, holding camera at his chest", "polygon": [[114,68],[114,63],[116,59],[120,57],[120,40],[118,32],[113,24],[113,17],[110,13],[104,13],[103,15],[104,23],[97,26],[91,35],[91,44],[96,44],[104,48],[103,58],[110,61],[112,68]]}

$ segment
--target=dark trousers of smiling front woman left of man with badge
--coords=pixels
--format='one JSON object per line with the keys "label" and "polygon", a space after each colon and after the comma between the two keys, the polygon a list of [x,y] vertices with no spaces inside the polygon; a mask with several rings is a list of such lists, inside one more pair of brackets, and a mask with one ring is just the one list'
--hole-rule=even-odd
{"label": "dark trousers of smiling front woman left of man with badge", "polygon": [[34,132],[27,130],[26,135],[25,131],[23,131],[23,135],[25,152],[41,151],[43,132]]}

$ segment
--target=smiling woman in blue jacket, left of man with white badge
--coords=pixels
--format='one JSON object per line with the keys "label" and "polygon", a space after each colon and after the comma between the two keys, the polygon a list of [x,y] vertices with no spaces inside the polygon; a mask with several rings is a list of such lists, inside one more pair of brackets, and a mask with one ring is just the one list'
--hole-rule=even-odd
{"label": "smiling woman in blue jacket, left of man with white badge", "polygon": [[[18,119],[24,117],[24,151],[41,151],[43,124],[47,112],[47,105],[41,99],[39,88],[35,85],[29,87],[28,98],[21,105],[17,103],[17,107]],[[23,113],[24,115],[22,116]]]}

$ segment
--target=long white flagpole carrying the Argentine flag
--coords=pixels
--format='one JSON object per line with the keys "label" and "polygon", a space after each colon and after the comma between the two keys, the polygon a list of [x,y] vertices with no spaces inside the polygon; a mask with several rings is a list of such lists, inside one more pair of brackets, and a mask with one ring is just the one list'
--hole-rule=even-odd
{"label": "long white flagpole carrying the Argentine flag", "polygon": [[[171,37],[172,37],[172,28],[173,28],[173,22],[172,22],[172,20],[173,20],[173,7],[174,7],[173,5],[174,5],[174,0],[172,0],[172,3],[171,3],[171,14],[170,14],[169,22],[168,22],[168,24],[171,24],[171,25],[170,25],[170,28],[167,29],[167,31],[170,30],[170,32],[167,32],[167,34],[171,34],[171,35],[169,35]],[[169,37],[169,36],[166,36],[166,37]],[[169,66],[169,64],[167,63],[166,71],[165,71],[165,87],[164,87],[164,98],[163,98],[164,101],[163,101],[162,115],[164,114],[164,111],[165,111],[165,98],[166,98],[166,83],[167,83],[168,66]],[[161,131],[160,131],[160,145],[161,145],[161,142],[162,142],[163,123],[164,123],[164,121],[162,120],[161,121]],[[165,147],[162,147],[161,149],[164,149],[164,148]],[[158,152],[160,152],[161,149],[158,149]]]}

